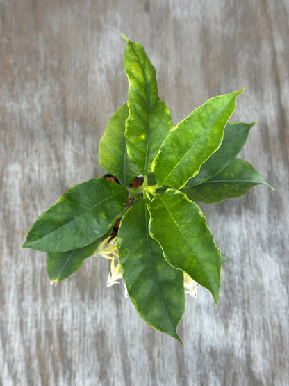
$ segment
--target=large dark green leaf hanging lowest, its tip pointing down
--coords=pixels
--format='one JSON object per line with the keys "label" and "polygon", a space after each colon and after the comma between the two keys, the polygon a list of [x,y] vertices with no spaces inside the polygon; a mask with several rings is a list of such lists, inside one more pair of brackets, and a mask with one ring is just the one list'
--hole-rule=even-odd
{"label": "large dark green leaf hanging lowest, its tip pointing down", "polygon": [[181,341],[176,326],[185,309],[183,271],[167,264],[160,246],[149,236],[148,223],[145,200],[122,218],[118,251],[124,282],[142,319]]}

